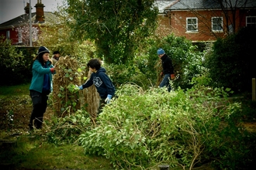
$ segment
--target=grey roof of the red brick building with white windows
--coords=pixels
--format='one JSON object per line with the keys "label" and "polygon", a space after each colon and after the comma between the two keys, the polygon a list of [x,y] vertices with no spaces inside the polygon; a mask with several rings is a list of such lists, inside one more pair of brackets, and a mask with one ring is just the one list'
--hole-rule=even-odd
{"label": "grey roof of the red brick building with white windows", "polygon": [[[230,0],[223,2],[224,8],[256,8],[255,0]],[[230,2],[230,3],[229,3]],[[189,10],[189,9],[210,9],[222,8],[220,3],[216,0],[176,0],[174,3],[166,6],[165,10]]]}

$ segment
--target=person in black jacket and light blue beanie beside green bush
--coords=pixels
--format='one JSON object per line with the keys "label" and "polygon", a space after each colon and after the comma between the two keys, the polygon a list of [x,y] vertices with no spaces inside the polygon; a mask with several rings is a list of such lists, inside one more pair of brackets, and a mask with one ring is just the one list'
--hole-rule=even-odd
{"label": "person in black jacket and light blue beanie beside green bush", "polygon": [[172,66],[171,58],[164,53],[164,49],[157,49],[157,55],[161,59],[163,70],[161,76],[164,76],[159,87],[167,87],[168,92],[171,91],[170,80],[175,79],[174,68]]}

